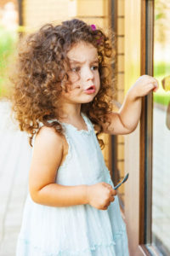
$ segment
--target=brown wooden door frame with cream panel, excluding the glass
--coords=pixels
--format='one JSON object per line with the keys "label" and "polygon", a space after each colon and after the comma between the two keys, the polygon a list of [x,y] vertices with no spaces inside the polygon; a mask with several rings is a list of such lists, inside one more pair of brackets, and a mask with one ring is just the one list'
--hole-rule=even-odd
{"label": "brown wooden door frame with cream panel, excluding the glass", "polygon": [[[125,1],[125,91],[153,74],[154,0]],[[142,101],[140,123],[125,137],[125,218],[130,255],[158,255],[151,243],[152,93]],[[150,186],[147,186],[147,184]]]}

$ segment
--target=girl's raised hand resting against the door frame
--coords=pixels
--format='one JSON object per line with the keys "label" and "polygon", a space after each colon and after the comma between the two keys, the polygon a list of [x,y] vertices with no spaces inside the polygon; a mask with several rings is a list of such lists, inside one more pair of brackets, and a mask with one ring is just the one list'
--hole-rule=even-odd
{"label": "girl's raised hand resting against the door frame", "polygon": [[128,94],[133,96],[134,99],[141,96],[146,96],[151,90],[156,91],[158,89],[158,82],[155,78],[148,75],[143,75],[136,80],[133,86],[128,90]]}

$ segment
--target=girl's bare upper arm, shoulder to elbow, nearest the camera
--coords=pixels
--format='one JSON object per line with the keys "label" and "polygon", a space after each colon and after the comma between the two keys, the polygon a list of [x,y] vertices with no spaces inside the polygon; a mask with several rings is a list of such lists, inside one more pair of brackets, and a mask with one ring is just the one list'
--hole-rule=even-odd
{"label": "girl's bare upper arm, shoulder to elbow, nearest the camera", "polygon": [[62,136],[52,127],[42,126],[35,138],[29,172],[31,197],[37,191],[55,182],[55,177],[64,153]]}

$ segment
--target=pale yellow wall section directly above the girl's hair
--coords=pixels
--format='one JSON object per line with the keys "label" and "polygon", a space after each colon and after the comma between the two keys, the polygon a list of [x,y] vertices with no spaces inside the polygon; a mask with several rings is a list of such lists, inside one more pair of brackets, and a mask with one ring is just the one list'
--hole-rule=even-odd
{"label": "pale yellow wall section directly above the girl's hair", "polygon": [[24,0],[24,25],[31,29],[47,22],[77,17],[101,28],[108,26],[110,0]]}

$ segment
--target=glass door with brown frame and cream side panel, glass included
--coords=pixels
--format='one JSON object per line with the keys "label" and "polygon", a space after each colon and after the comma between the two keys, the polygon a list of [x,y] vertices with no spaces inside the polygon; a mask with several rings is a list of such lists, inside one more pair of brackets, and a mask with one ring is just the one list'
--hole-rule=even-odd
{"label": "glass door with brown frame and cream side panel, glass included", "polygon": [[[129,251],[131,255],[167,256],[170,255],[170,0],[125,3],[125,82],[130,86],[137,74],[146,73],[160,84],[156,93],[143,98],[139,130],[125,141],[125,170],[130,173],[125,185]],[[138,49],[136,54],[135,49]],[[139,58],[134,59],[135,56]]]}

